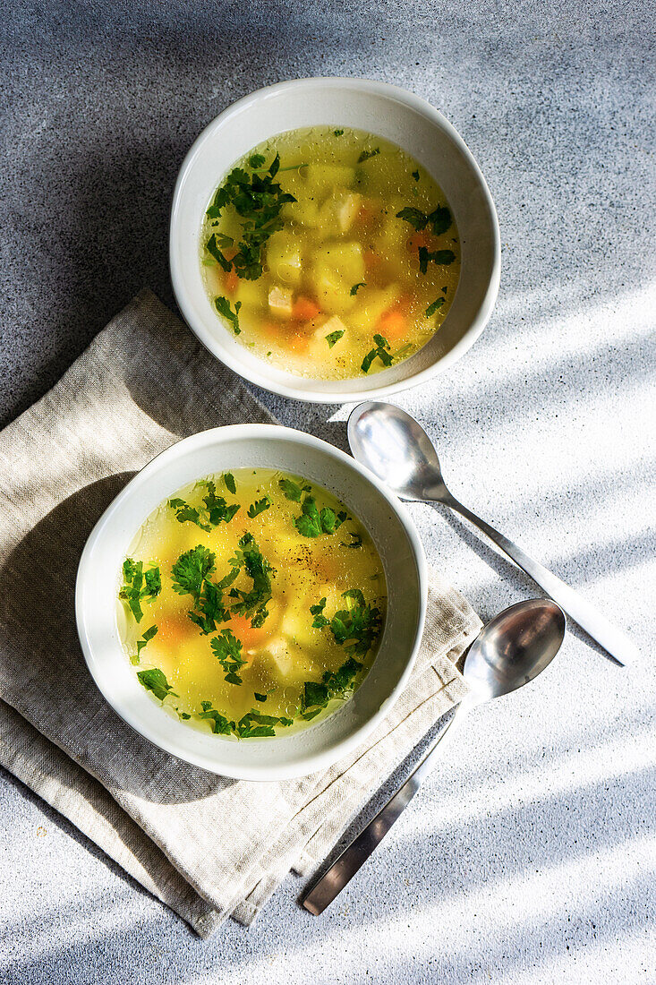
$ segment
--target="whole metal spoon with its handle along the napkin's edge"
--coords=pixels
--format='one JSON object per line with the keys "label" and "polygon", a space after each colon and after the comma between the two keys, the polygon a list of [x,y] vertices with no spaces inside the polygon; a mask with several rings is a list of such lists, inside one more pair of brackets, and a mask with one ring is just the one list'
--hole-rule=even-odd
{"label": "whole metal spoon with its handle along the napkin's edge", "polygon": [[453,735],[452,723],[462,722],[465,713],[477,704],[533,681],[558,653],[564,629],[564,616],[555,602],[529,599],[504,609],[481,630],[469,649],[463,670],[471,691],[409,779],[310,889],[303,899],[306,910],[315,915],[322,913],[353,879],[421,787],[437,753],[445,748],[444,736]]}

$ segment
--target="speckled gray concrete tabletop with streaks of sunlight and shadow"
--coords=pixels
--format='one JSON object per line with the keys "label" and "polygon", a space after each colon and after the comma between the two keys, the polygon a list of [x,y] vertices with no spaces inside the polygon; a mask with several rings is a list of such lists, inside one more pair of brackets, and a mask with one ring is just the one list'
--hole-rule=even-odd
{"label": "speckled gray concrete tabletop with streaks of sunlight and shadow", "polygon": [[[250,931],[206,943],[4,775],[0,979],[656,981],[653,5],[46,0],[3,22],[4,422],[143,285],[172,303],[175,173],[230,101],[303,75],[406,86],[482,165],[503,269],[481,340],[399,403],[454,492],[644,660],[619,670],[573,629],[539,682],[478,711],[322,918],[290,878]],[[343,443],[343,409],[265,400]],[[460,521],[413,514],[484,618],[532,594]]]}

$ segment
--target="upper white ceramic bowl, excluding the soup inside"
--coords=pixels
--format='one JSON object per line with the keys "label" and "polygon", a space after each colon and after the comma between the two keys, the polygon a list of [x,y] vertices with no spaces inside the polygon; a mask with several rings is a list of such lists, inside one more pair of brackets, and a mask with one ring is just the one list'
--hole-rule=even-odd
{"label": "upper white ceramic bowl, excluding the soup inside", "polygon": [[[296,376],[254,356],[222,325],[202,280],[200,230],[219,182],[256,144],[285,130],[329,124],[367,130],[408,151],[444,191],[460,233],[462,267],[439,331],[410,359],[371,376]],[[483,331],[498,292],[499,232],[481,170],[451,124],[424,99],[366,79],[298,79],[239,99],[203,130],[175,185],[170,272],[182,315],[200,341],[252,383],[296,400],[353,402],[423,383],[467,352]]]}

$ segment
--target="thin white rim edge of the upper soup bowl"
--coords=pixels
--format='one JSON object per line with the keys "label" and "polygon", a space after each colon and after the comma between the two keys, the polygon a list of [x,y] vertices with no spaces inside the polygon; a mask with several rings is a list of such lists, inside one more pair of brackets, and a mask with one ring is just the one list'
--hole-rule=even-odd
{"label": "thin white rim edge of the upper soup bowl", "polygon": [[[446,132],[447,136],[456,145],[463,157],[467,159],[469,166],[476,175],[477,181],[483,193],[485,205],[490,214],[492,223],[493,259],[490,282],[476,317],[464,332],[462,338],[460,338],[453,348],[450,349],[444,356],[434,361],[431,365],[426,366],[425,369],[414,373],[407,379],[398,380],[395,383],[387,383],[382,386],[376,386],[374,382],[375,376],[373,376],[371,377],[371,385],[362,386],[362,388],[357,391],[345,390],[340,392],[339,390],[335,390],[330,394],[322,394],[311,390],[305,390],[302,385],[302,376],[297,377],[297,384],[271,380],[267,376],[264,369],[259,371],[251,368],[250,366],[244,366],[243,362],[238,357],[233,356],[230,351],[227,351],[223,347],[221,339],[210,331],[201,318],[196,317],[196,313],[192,305],[187,303],[187,291],[179,269],[174,244],[176,242],[178,217],[180,213],[179,199],[182,194],[182,189],[186,181],[187,174],[194,166],[196,158],[201,153],[204,143],[215,133],[215,131],[220,129],[231,116],[241,113],[244,110],[248,110],[254,103],[259,102],[262,99],[275,95],[284,95],[285,93],[298,89],[307,89],[311,91],[316,89],[335,89],[340,87],[348,87],[362,93],[370,93],[371,95],[394,99],[397,102],[405,104],[409,109],[415,110],[416,112],[424,115],[439,129]],[[463,138],[460,136],[453,124],[450,123],[446,117],[426,99],[417,96],[415,93],[411,93],[409,90],[402,89],[400,86],[394,86],[387,82],[378,82],[374,79],[350,78],[349,76],[309,76],[302,79],[292,79],[286,82],[278,82],[272,86],[265,86],[253,93],[249,93],[247,96],[243,96],[241,99],[237,99],[235,102],[230,103],[226,109],[211,120],[193,142],[189,148],[189,151],[185,155],[182,164],[180,165],[173,189],[168,234],[168,262],[173,294],[186,324],[189,326],[199,342],[205,346],[208,352],[210,352],[215,359],[222,361],[243,379],[246,379],[250,383],[261,387],[263,390],[267,390],[269,393],[276,393],[280,396],[288,397],[301,402],[312,404],[353,404],[360,403],[362,400],[378,400],[383,397],[389,397],[394,393],[399,393],[400,391],[408,390],[415,386],[420,386],[425,383],[426,380],[431,379],[440,372],[443,372],[455,361],[464,356],[469,349],[471,349],[490,320],[500,284],[500,256],[500,231],[492,194],[479,164]],[[217,350],[220,350],[220,354]],[[262,364],[263,366],[265,365],[265,363]],[[376,375],[378,374],[376,373]],[[337,383],[339,380],[336,380],[335,382]],[[364,382],[364,380],[362,382]]]}

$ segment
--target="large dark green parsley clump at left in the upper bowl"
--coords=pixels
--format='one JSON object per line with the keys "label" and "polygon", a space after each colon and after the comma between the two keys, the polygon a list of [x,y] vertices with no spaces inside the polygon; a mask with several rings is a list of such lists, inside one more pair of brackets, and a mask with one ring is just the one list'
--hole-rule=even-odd
{"label": "large dark green parsley clump at left in the upper bowl", "polygon": [[[252,164],[253,161],[257,167]],[[274,180],[280,169],[280,155],[276,155],[264,174],[258,172],[264,164],[263,155],[251,155],[248,164],[252,169],[250,174],[243,167],[232,168],[214,196],[207,216],[218,220],[227,206],[234,209],[241,219],[241,239],[231,260],[221,254],[224,260],[222,266],[227,270],[234,269],[237,276],[244,280],[256,281],[262,275],[262,247],[272,232],[281,229],[283,206],[296,200]],[[206,245],[210,250],[209,242]],[[210,252],[218,259],[217,253],[221,250],[218,243],[214,245],[216,252]]]}

